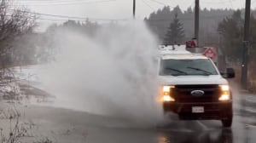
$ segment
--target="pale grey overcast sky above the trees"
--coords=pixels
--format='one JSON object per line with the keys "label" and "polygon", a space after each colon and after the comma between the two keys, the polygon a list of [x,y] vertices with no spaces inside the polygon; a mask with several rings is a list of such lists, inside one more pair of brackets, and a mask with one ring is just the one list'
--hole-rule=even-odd
{"label": "pale grey overcast sky above the trees", "polygon": [[[16,0],[15,6],[25,5],[33,12],[42,14],[88,17],[92,19],[131,19],[133,0]],[[201,0],[201,9],[242,9],[245,0]],[[195,0],[137,0],[137,19],[161,9],[165,5],[171,8],[179,5],[181,9],[195,6]],[[252,0],[252,9],[256,0]],[[41,27],[67,18],[41,15]],[[46,20],[47,19],[47,20]]]}

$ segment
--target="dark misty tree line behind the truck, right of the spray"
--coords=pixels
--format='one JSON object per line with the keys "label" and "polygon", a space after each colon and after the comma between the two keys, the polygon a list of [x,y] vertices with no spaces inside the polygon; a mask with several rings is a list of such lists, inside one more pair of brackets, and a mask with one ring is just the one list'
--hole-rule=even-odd
{"label": "dark misty tree line behind the truck, right of the spray", "polygon": [[[256,44],[256,18],[252,12],[250,24],[250,60],[256,60],[253,46]],[[227,58],[241,62],[241,49],[244,26],[244,10],[201,9],[200,43],[217,43]],[[179,7],[164,7],[145,18],[148,28],[159,37],[161,43],[184,43],[194,37],[194,11],[189,7],[182,11]]]}

